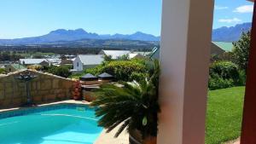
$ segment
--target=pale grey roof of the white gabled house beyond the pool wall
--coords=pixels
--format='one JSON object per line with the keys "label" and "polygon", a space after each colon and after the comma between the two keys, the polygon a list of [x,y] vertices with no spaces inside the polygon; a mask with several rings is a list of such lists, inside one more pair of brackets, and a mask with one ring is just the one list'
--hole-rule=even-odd
{"label": "pale grey roof of the white gabled house beyond the pool wall", "polygon": [[84,65],[100,65],[104,61],[103,55],[78,55]]}

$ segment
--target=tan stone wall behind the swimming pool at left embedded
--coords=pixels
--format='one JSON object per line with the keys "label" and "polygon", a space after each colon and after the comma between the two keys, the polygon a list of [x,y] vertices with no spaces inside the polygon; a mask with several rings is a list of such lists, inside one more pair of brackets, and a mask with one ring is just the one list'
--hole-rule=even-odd
{"label": "tan stone wall behind the swimming pool at left embedded", "polygon": [[26,72],[38,76],[29,84],[32,102],[35,104],[62,101],[72,97],[73,80],[26,70],[0,75],[0,108],[20,107],[26,103],[26,84],[15,78]]}

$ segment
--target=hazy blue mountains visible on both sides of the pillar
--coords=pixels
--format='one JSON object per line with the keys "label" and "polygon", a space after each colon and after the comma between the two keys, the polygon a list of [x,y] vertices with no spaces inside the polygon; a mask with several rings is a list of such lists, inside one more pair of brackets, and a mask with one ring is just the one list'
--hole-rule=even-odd
{"label": "hazy blue mountains visible on both sides of the pillar", "polygon": [[[232,27],[220,27],[212,30],[212,41],[215,42],[234,42],[239,39],[241,32],[246,32],[251,29],[252,23],[238,24]],[[84,29],[65,30],[58,29],[49,32],[46,35],[38,37],[25,37],[15,39],[0,39],[0,45],[26,45],[26,44],[58,44],[72,43],[81,40],[118,40],[118,41],[145,41],[159,42],[160,37],[143,32],[135,32],[133,34],[106,34],[100,35],[97,33],[86,32]]]}

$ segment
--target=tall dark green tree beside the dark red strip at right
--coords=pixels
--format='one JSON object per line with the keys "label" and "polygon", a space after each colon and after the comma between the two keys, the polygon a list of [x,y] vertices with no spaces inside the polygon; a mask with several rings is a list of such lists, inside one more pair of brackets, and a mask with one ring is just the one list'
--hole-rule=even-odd
{"label": "tall dark green tree beside the dark red strip at right", "polygon": [[249,59],[249,49],[251,41],[251,32],[242,32],[241,38],[233,43],[233,57],[235,63],[242,69],[247,69],[248,59]]}

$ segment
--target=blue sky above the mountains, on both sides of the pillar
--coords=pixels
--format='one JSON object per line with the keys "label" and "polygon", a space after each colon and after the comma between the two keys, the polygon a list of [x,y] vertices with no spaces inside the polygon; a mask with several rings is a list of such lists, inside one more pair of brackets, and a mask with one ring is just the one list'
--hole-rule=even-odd
{"label": "blue sky above the mountains, on both sides of the pillar", "polygon": [[[216,0],[213,28],[251,21],[251,7],[246,0]],[[159,36],[160,15],[161,0],[0,0],[0,38],[40,36],[59,28]]]}

